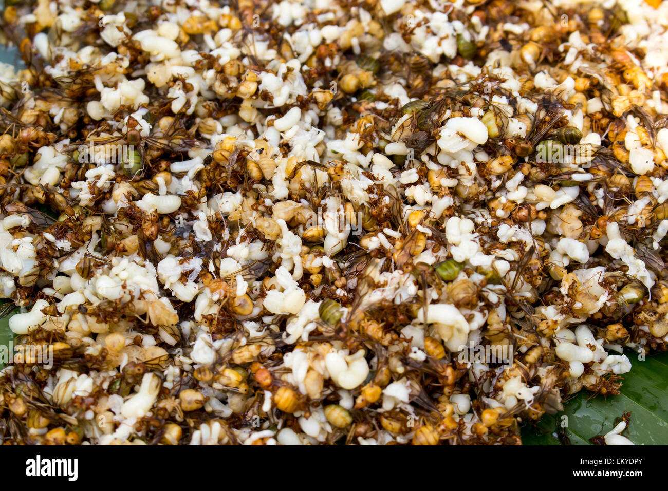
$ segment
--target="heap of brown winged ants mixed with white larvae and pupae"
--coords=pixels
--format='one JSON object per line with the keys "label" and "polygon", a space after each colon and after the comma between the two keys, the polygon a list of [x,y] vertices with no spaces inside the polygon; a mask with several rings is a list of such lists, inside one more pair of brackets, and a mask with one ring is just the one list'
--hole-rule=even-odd
{"label": "heap of brown winged ants mixed with white larvae and pupae", "polygon": [[668,2],[1,17],[3,444],[521,444],[665,351]]}

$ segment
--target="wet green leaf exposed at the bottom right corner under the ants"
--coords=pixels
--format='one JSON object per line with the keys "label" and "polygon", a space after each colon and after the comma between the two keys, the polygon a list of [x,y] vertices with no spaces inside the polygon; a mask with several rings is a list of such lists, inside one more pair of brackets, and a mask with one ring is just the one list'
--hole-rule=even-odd
{"label": "wet green leaf exposed at the bottom right corner under the ants", "polygon": [[[650,355],[639,360],[628,352],[633,367],[624,375],[620,395],[591,397],[582,390],[564,403],[564,411],[556,416],[545,415],[535,426],[524,424],[524,445],[558,445],[557,434],[570,439],[573,445],[591,445],[593,436],[613,429],[615,420],[631,412],[627,436],[636,445],[663,445],[668,442],[668,353]],[[565,416],[565,418],[564,418]],[[562,428],[562,424],[565,426]]]}

